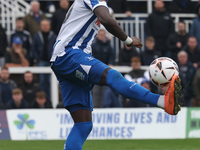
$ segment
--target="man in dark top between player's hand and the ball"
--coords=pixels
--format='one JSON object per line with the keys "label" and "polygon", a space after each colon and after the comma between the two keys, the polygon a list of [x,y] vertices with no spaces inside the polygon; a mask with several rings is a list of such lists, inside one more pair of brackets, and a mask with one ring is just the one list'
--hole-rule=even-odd
{"label": "man in dark top between player's hand and the ball", "polygon": [[155,39],[149,36],[145,40],[145,51],[141,53],[142,65],[148,66],[152,61],[160,56],[160,53],[154,49]]}

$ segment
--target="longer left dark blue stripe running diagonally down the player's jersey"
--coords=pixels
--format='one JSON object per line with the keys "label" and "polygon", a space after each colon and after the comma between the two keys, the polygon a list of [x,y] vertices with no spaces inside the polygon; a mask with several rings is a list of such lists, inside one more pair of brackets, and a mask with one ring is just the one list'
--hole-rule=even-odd
{"label": "longer left dark blue stripe running diagonally down the player's jersey", "polygon": [[73,39],[68,43],[66,47],[72,47],[75,46],[76,43],[80,40],[80,38],[83,36],[85,31],[87,30],[88,26],[96,19],[96,15],[93,15],[87,22],[86,24],[81,28],[81,30],[73,37]]}

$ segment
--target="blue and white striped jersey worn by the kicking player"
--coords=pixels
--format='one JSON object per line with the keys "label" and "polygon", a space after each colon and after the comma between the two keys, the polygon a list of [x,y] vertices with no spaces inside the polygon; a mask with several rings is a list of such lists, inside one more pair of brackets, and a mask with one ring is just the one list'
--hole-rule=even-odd
{"label": "blue and white striped jersey worn by the kicking player", "polygon": [[91,54],[91,44],[96,37],[100,22],[93,13],[98,6],[107,6],[104,0],[75,0],[70,7],[54,44],[51,62],[63,56],[65,49],[82,49]]}

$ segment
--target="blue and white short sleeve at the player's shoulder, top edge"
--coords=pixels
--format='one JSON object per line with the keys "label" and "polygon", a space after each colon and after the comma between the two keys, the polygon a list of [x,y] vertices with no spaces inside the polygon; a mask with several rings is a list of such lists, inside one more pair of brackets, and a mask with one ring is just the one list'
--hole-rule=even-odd
{"label": "blue and white short sleeve at the player's shoulder, top edge", "polygon": [[104,0],[83,0],[83,1],[85,6],[87,8],[90,8],[92,11],[99,6],[105,6],[108,8],[108,5]]}

